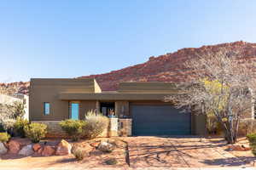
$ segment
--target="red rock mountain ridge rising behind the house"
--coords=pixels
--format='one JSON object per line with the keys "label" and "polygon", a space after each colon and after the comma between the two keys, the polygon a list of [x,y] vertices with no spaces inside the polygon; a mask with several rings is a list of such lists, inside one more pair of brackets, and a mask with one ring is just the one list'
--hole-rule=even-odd
{"label": "red rock mountain ridge rising behind the house", "polygon": [[[202,46],[201,48],[183,48],[175,53],[158,57],[149,57],[148,61],[105,74],[90,75],[78,78],[95,78],[102,90],[116,90],[119,82],[179,82],[186,79],[189,71],[183,67],[183,62],[204,54],[207,50],[217,51],[218,48],[232,48],[241,51],[247,59],[256,61],[256,43],[230,42],[218,45]],[[18,92],[28,93],[29,82],[0,83],[0,89],[18,87]],[[10,90],[11,91],[11,90]]]}

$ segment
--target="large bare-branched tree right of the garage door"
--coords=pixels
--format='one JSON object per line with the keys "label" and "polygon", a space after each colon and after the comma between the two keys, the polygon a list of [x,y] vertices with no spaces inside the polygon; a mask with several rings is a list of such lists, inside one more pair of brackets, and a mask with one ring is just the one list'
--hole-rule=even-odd
{"label": "large bare-branched tree right of the garage door", "polygon": [[177,108],[193,108],[197,114],[213,114],[225,139],[234,144],[241,117],[252,110],[255,75],[251,61],[230,48],[197,54],[184,64],[191,75],[178,84],[182,94],[166,96],[165,100]]}

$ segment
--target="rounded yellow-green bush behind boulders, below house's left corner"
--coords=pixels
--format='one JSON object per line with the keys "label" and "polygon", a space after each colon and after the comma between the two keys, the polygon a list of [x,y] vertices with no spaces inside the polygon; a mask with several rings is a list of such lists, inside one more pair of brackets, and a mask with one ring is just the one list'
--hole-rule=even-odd
{"label": "rounded yellow-green bush behind boulders, below house's left corner", "polygon": [[33,122],[24,127],[26,137],[31,139],[33,143],[38,143],[41,139],[44,139],[47,133],[47,126],[43,123]]}

